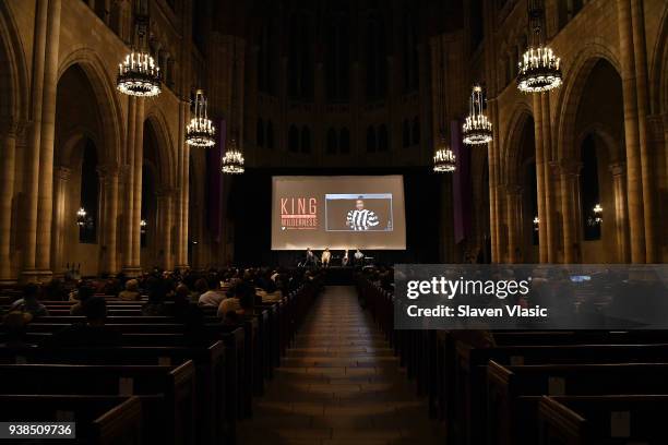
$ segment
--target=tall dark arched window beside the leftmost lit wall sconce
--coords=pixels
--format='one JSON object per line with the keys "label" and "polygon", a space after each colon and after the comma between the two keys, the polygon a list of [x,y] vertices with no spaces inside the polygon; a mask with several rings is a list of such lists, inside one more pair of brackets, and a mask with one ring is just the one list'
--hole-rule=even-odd
{"label": "tall dark arched window beside the leftmost lit wall sconce", "polygon": [[98,205],[99,177],[97,175],[97,152],[93,141],[88,140],[84,146],[83,160],[81,163],[80,207],[86,212],[86,216],[79,226],[79,242],[88,244],[97,242]]}

